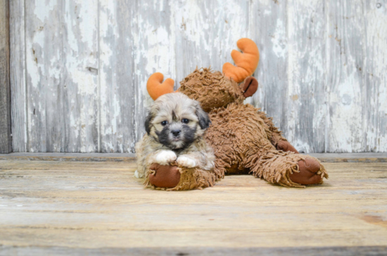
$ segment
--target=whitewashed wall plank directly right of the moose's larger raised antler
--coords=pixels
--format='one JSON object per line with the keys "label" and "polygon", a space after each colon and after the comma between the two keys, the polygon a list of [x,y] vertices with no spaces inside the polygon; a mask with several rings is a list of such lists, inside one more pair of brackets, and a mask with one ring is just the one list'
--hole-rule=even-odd
{"label": "whitewashed wall plank directly right of the moose's larger raised antler", "polygon": [[251,37],[260,50],[260,63],[254,75],[259,89],[250,102],[273,117],[285,136],[288,131],[284,115],[288,87],[286,6],[287,1],[252,1],[249,13]]}

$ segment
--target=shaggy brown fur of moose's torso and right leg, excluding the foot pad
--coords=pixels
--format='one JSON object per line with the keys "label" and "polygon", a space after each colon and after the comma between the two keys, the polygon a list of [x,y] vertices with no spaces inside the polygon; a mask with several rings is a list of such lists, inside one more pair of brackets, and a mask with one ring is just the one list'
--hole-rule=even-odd
{"label": "shaggy brown fur of moose's torso and right leg, excluding the foot pad", "polygon": [[[278,151],[272,138],[286,139],[272,121],[253,105],[231,103],[226,108],[215,108],[210,112],[210,119],[212,126],[208,129],[206,140],[215,152],[215,172],[250,172],[272,184],[304,187],[291,181],[289,175],[299,172],[299,160],[312,157]],[[322,165],[317,173],[328,177]]]}

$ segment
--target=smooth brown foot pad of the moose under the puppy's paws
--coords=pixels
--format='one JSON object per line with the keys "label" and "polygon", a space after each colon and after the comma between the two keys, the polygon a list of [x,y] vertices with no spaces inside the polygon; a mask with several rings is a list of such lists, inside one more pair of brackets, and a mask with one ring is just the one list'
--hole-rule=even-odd
{"label": "smooth brown foot pad of the moose under the puppy's paws", "polygon": [[180,181],[180,172],[177,166],[159,165],[153,163],[150,167],[155,171],[154,174],[149,174],[149,182],[153,186],[160,188],[175,188]]}

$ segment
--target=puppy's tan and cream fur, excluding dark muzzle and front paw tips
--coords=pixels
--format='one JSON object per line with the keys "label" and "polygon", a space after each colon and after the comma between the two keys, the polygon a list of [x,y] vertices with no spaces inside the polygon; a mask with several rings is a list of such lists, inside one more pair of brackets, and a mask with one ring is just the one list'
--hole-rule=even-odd
{"label": "puppy's tan and cream fur, excluding dark muzzle and front paw tips", "polygon": [[[159,164],[175,164],[186,168],[186,166],[179,164],[179,159],[182,159],[181,157],[194,160],[196,166],[190,169],[198,169],[196,172],[199,172],[199,170],[200,172],[213,172],[215,156],[212,148],[208,146],[203,138],[205,129],[201,129],[198,123],[198,116],[196,115],[196,112],[201,110],[201,108],[199,108],[200,105],[197,101],[193,101],[180,93],[165,94],[160,96],[153,103],[150,110],[150,115],[153,117],[150,124],[150,132],[149,134],[145,134],[136,144],[137,172],[139,177],[146,177],[148,175],[149,167],[154,162]],[[160,143],[160,141],[158,141],[158,135],[156,134],[156,132],[160,132],[163,129],[160,122],[163,122],[163,120],[171,122],[172,115],[175,115],[177,120],[183,118],[189,119],[190,122],[187,125],[191,128],[196,128],[194,142],[189,146],[186,146],[186,148],[174,151],[172,148]],[[177,159],[167,163],[160,162],[158,156],[160,153],[165,152],[175,153]]]}

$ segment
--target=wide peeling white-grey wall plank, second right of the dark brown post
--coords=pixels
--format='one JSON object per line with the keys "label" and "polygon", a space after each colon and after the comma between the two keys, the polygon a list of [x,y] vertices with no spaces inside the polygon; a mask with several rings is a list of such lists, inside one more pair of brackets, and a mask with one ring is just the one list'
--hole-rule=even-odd
{"label": "wide peeling white-grey wall plank, second right of the dark brown post", "polygon": [[95,152],[98,3],[25,4],[27,150]]}

